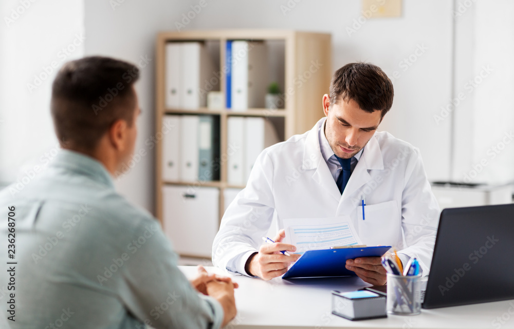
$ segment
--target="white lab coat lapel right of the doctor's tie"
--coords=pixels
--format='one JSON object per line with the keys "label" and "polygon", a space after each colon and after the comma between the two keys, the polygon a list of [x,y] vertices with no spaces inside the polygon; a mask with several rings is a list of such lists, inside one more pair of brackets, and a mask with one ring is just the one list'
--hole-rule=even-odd
{"label": "white lab coat lapel right of the doctor's tie", "polygon": [[364,184],[372,180],[369,170],[383,170],[382,152],[377,139],[373,135],[368,144],[364,146],[364,151],[360,157],[359,162],[355,166],[350,180],[344,188],[341,202],[352,196],[355,191],[361,188]]}

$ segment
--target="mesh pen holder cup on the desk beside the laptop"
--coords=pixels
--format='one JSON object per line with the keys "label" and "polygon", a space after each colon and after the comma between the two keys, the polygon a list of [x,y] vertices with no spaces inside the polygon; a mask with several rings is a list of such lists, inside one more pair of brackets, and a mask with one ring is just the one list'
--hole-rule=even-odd
{"label": "mesh pen holder cup on the desk beside the laptop", "polygon": [[421,313],[421,275],[387,274],[387,313],[417,315]]}

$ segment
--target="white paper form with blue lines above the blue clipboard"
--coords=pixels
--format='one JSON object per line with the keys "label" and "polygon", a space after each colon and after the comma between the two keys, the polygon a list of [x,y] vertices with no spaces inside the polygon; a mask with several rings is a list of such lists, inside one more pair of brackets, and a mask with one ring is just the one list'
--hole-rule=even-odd
{"label": "white paper form with blue lines above the blue clipboard", "polygon": [[283,220],[286,237],[283,242],[297,247],[295,254],[307,250],[362,244],[349,216],[335,218],[302,218]]}

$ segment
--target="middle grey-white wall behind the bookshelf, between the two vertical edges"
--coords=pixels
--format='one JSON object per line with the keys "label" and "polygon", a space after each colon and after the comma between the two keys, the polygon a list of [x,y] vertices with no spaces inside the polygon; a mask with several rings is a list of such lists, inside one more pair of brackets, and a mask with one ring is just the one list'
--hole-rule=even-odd
{"label": "middle grey-white wall behind the bookshelf, between the two vertical edges", "polygon": [[[112,2],[111,2],[112,3]],[[85,2],[85,54],[101,54],[137,61],[141,55],[154,58],[159,30],[216,28],[281,28],[322,31],[333,36],[333,69],[353,61],[370,61],[394,81],[395,100],[381,129],[419,147],[431,179],[449,178],[450,121],[436,125],[433,114],[450,99],[451,3],[406,0],[400,18],[376,18],[363,22],[360,1],[302,1],[290,11],[287,1],[125,1],[112,8],[108,2]],[[289,1],[289,3],[294,3]],[[193,7],[191,7],[193,6]],[[192,20],[184,17],[200,9]],[[190,16],[193,16],[190,13]],[[180,26],[182,24],[183,26]],[[355,25],[354,25],[355,24]],[[354,28],[348,33],[346,28]],[[350,35],[349,35],[350,34]],[[420,56],[416,56],[416,49]],[[411,56],[411,66],[400,64]],[[154,208],[154,152],[144,141],[154,131],[154,64],[142,69],[136,85],[143,109],[136,150],[143,157],[118,182],[117,187],[132,201]],[[321,104],[320,95],[320,104]]]}

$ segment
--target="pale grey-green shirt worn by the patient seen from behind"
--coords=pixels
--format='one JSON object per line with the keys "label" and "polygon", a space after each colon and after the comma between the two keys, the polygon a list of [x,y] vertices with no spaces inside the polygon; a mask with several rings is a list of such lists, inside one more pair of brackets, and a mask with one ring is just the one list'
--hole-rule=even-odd
{"label": "pale grey-green shirt worn by the patient seen from behind", "polygon": [[[20,192],[13,190],[0,191],[0,327],[221,325],[222,306],[190,285],[157,220],[115,191],[100,162],[61,150]],[[9,206],[15,207],[12,260]],[[6,289],[8,266],[14,266],[14,291]],[[10,293],[15,322],[7,320]]]}

